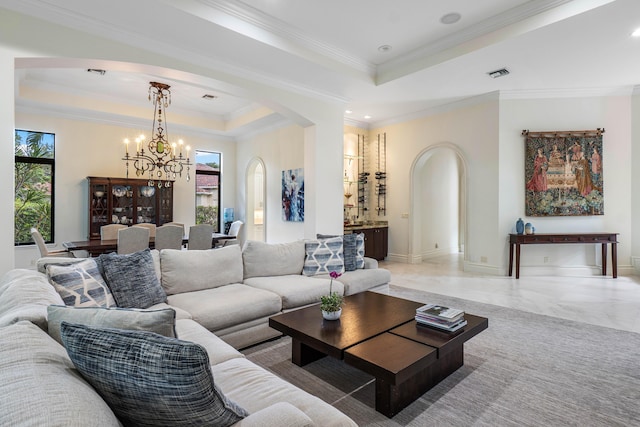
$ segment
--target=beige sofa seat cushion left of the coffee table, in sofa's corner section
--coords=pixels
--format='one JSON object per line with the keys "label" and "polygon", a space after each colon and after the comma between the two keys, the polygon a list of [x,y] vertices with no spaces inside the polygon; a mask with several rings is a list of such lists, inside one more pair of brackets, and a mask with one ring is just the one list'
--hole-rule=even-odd
{"label": "beige sofa seat cushion left of the coffee table, in sofa's corner section", "polygon": [[169,295],[169,304],[189,310],[193,320],[212,332],[272,316],[282,309],[278,295],[241,284]]}

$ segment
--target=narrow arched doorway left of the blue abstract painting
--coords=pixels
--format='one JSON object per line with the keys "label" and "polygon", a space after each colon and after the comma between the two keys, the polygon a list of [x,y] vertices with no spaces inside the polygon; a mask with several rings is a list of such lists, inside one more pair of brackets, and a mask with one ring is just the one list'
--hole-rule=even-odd
{"label": "narrow arched doorway left of the blue abstract painting", "polygon": [[246,239],[266,241],[266,174],[264,162],[260,158],[254,158],[247,166],[247,216],[246,216]]}

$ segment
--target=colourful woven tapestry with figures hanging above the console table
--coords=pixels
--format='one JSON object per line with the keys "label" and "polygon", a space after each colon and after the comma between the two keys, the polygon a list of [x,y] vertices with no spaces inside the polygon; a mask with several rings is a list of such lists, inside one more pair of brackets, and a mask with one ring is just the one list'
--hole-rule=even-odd
{"label": "colourful woven tapestry with figures hanging above the console table", "polygon": [[527,216],[604,215],[603,133],[522,131]]}

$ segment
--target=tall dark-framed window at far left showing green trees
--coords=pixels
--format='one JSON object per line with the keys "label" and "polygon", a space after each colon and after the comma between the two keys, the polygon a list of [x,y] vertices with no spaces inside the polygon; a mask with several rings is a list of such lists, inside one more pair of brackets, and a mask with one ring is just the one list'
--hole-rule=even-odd
{"label": "tall dark-framed window at far left showing green trees", "polygon": [[16,245],[33,244],[31,227],[45,242],[54,240],[55,135],[16,130],[15,133],[15,230]]}

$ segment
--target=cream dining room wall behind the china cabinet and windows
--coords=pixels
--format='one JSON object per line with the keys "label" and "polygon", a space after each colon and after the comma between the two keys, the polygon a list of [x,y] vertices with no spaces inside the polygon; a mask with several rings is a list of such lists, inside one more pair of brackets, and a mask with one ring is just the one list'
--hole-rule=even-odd
{"label": "cream dining room wall behind the china cabinet and windows", "polygon": [[[88,229],[87,176],[125,177],[122,140],[125,136],[146,132],[149,129],[130,129],[87,121],[70,120],[52,115],[16,113],[18,129],[51,132],[56,136],[56,247],[72,240],[85,240]],[[172,135],[170,135],[173,138]],[[176,135],[177,137],[177,135]],[[234,143],[214,141],[193,135],[180,135],[193,151],[219,151],[223,158],[223,194],[225,207],[235,207],[236,201],[236,146]],[[13,135],[12,135],[13,139]],[[12,152],[13,155],[13,152]],[[12,169],[13,170],[13,169]],[[224,178],[227,176],[229,179]],[[137,178],[130,165],[130,178]],[[191,169],[191,181],[186,176],[174,184],[174,221],[185,227],[195,223],[195,168]],[[13,214],[12,209],[6,209]],[[35,247],[16,247],[15,266],[32,267],[39,257]]]}

